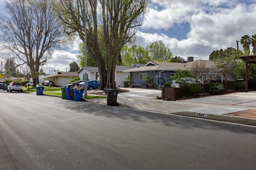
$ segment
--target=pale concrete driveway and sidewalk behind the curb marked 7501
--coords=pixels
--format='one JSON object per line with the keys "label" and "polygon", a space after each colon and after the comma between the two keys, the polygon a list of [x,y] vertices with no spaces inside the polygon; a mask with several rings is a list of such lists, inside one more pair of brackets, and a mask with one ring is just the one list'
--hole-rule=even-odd
{"label": "pale concrete driveway and sidewalk behind the curb marked 7501", "polygon": [[[256,91],[193,98],[181,101],[163,101],[156,100],[156,96],[161,96],[161,90],[141,88],[123,89],[130,91],[117,95],[117,102],[119,102],[119,106],[121,107],[256,126],[256,119],[223,115],[243,110],[255,110]],[[87,101],[107,104],[106,99],[87,99]]]}

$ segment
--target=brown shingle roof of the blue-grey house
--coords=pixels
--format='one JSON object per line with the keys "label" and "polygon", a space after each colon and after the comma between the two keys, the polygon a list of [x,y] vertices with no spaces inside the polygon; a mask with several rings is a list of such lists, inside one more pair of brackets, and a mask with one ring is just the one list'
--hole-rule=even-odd
{"label": "brown shingle roof of the blue-grey house", "polygon": [[145,66],[132,68],[124,70],[123,72],[134,72],[134,71],[156,71],[156,70],[186,70],[190,69],[193,64],[197,62],[206,62],[206,66],[210,68],[211,64],[214,64],[212,61],[208,60],[195,60],[192,62],[182,63],[182,62],[156,62],[156,61],[149,61]]}

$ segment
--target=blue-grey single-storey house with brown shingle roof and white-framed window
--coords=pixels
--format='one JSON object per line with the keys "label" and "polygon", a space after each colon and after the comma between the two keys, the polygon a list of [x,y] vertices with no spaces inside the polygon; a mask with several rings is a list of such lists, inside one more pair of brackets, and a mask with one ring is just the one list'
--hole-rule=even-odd
{"label": "blue-grey single-storey house with brown shingle roof and white-framed window", "polygon": [[[141,85],[147,84],[146,77],[151,77],[154,88],[157,88],[161,87],[161,84],[158,83],[160,78],[163,78],[165,82],[169,82],[171,80],[170,77],[175,76],[175,71],[185,71],[186,69],[189,71],[191,66],[198,60],[193,61],[193,57],[188,57],[188,61],[187,63],[149,61],[144,66],[127,69],[123,72],[130,73],[132,76],[132,87],[140,88]],[[208,60],[202,61],[210,63]]]}

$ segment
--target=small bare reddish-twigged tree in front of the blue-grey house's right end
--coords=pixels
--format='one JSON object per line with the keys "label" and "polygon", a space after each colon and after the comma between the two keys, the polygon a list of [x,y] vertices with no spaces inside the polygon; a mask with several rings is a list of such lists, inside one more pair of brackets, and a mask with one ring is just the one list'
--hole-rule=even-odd
{"label": "small bare reddish-twigged tree in front of the blue-grey house's right end", "polygon": [[211,79],[219,76],[217,73],[217,65],[212,61],[196,60],[189,64],[189,68],[192,69],[192,72],[195,73],[198,78],[202,77],[204,84],[210,83]]}

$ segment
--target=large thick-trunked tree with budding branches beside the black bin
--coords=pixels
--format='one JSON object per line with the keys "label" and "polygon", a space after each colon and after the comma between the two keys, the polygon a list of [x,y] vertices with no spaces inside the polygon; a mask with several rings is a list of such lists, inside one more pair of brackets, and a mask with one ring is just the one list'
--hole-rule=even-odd
{"label": "large thick-trunked tree with budding branches beside the black bin", "polygon": [[[87,49],[100,73],[99,90],[116,88],[115,66],[122,46],[132,42],[142,25],[150,0],[75,0],[64,2],[58,8],[59,17],[68,34],[77,32],[84,41],[84,24],[88,25]],[[63,9],[63,10],[61,10]],[[84,15],[84,11],[87,13]],[[102,31],[98,31],[100,28]],[[102,34],[102,35],[101,35]],[[103,38],[100,38],[103,37]],[[105,55],[100,51],[103,42]],[[112,86],[113,85],[113,86]]]}

